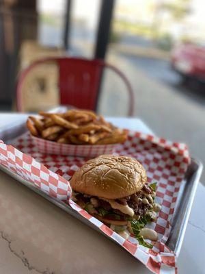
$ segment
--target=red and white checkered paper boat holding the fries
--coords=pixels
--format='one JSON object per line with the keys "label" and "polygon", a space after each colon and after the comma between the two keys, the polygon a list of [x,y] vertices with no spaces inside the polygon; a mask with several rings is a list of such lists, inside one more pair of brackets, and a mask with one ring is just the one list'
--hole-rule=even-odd
{"label": "red and white checkered paper boat holding the fries", "polygon": [[33,138],[38,151],[44,154],[70,155],[80,157],[96,157],[102,154],[112,154],[118,147],[118,144],[113,145],[70,145],[52,142],[42,138]]}

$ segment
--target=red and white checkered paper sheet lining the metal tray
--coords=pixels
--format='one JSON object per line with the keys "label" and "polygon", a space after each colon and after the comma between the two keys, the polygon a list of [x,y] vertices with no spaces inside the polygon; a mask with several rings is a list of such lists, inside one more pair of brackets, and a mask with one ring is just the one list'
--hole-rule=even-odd
{"label": "red and white checkered paper sheet lining the metal tray", "polygon": [[155,201],[160,203],[162,208],[156,223],[149,226],[159,234],[159,240],[152,242],[154,247],[148,249],[138,245],[133,236],[124,240],[69,199],[71,189],[68,180],[88,158],[39,153],[29,134],[17,138],[12,144],[16,148],[0,143],[0,163],[3,166],[32,182],[46,194],[70,204],[153,273],[177,273],[176,255],[166,247],[165,242],[171,229],[180,184],[190,162],[186,145],[139,132],[129,132],[128,140],[116,151],[139,160],[146,168],[148,182],[158,182]]}

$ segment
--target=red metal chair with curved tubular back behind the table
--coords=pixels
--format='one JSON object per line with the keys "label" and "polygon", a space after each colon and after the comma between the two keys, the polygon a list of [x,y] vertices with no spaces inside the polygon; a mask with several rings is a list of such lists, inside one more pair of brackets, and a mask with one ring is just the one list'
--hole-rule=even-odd
{"label": "red metal chair with curved tubular back behind the table", "polygon": [[82,58],[43,58],[33,62],[21,73],[16,89],[17,110],[23,111],[22,86],[25,77],[31,73],[38,64],[55,62],[59,67],[59,93],[62,105],[74,105],[77,108],[96,110],[98,91],[102,71],[107,68],[121,77],[126,85],[129,96],[128,116],[133,116],[134,93],[130,82],[119,69],[103,60],[86,60]]}

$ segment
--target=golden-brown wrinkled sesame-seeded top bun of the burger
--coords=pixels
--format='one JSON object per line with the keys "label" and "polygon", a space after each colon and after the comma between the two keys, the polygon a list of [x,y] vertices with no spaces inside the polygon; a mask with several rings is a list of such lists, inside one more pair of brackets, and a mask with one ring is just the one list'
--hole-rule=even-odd
{"label": "golden-brown wrinkled sesame-seeded top bun of the burger", "polygon": [[126,156],[100,155],[78,169],[70,186],[74,191],[105,199],[120,199],[138,192],[146,184],[143,166]]}

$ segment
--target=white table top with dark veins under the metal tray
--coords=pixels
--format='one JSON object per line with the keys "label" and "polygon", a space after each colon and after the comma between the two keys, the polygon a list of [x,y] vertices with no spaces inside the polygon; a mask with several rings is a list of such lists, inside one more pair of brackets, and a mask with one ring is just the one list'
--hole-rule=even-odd
{"label": "white table top with dark veins under the metal tray", "polygon": [[[26,116],[18,116],[17,114],[0,114],[0,132],[1,129],[5,129],[5,125],[18,123],[17,121],[19,121],[19,118],[24,121]],[[107,120],[112,121],[119,127],[152,133],[151,130],[139,119],[108,118]],[[1,186],[3,186],[0,192],[0,212],[2,210],[2,204],[8,203],[6,195],[8,195],[8,197],[14,195],[15,204],[19,208],[20,206],[22,208],[25,207],[25,214],[29,214],[30,217],[34,218],[36,224],[46,225],[49,223],[48,234],[57,233],[59,237],[58,242],[62,241],[61,238],[64,239],[61,245],[67,245],[68,248],[65,249],[64,253],[67,252],[66,260],[70,262],[69,264],[68,262],[66,263],[61,260],[56,260],[55,252],[52,253],[52,251],[47,252],[46,255],[40,253],[38,245],[32,244],[31,242],[29,242],[29,244],[25,242],[25,235],[19,238],[16,232],[12,231],[10,225],[3,225],[2,222],[5,223],[7,219],[4,220],[1,217],[1,273],[34,274],[42,273],[40,271],[45,271],[46,269],[49,269],[47,273],[52,273],[52,271],[55,271],[55,273],[150,273],[143,264],[135,260],[126,251],[122,250],[110,240],[107,240],[89,227],[86,227],[84,224],[72,218],[72,216],[68,216],[68,214],[42,199],[42,197],[39,197],[36,193],[31,192],[31,190],[28,190],[19,184],[14,184],[15,180],[8,177],[8,175],[0,172],[0,177]],[[193,208],[191,210],[189,223],[187,225],[184,242],[178,258],[179,273],[205,273],[204,197],[205,188],[202,184],[199,184]],[[5,205],[3,207],[5,208]],[[10,216],[10,218],[12,219],[12,216]],[[59,225],[59,223],[61,225]],[[73,240],[74,237],[72,238],[72,234],[78,236],[78,242]],[[87,249],[88,242],[89,249]],[[79,246],[81,246],[81,248],[79,248]],[[63,248],[64,247],[62,246],[61,249]],[[69,253],[70,249],[72,249],[72,255]],[[191,252],[191,249],[193,252]],[[37,256],[38,252],[40,256]],[[80,260],[79,256],[83,256],[83,259]]]}

